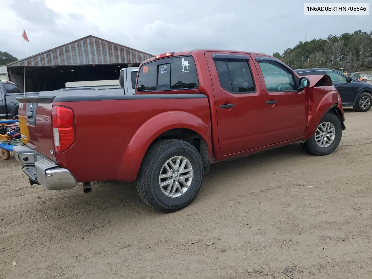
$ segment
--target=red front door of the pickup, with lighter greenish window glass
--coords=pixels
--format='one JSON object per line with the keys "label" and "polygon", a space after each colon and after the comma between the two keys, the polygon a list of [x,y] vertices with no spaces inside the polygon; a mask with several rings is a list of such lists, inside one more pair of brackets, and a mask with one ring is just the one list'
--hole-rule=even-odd
{"label": "red front door of the pickup, with lighter greenish window glass", "polygon": [[297,90],[298,78],[282,63],[265,57],[257,60],[266,106],[264,144],[301,138],[307,126],[307,90]]}

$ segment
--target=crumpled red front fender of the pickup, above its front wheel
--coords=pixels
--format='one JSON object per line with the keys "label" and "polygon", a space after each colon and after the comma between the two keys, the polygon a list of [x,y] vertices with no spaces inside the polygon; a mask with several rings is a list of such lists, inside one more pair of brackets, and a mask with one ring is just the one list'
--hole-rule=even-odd
{"label": "crumpled red front fender of the pickup, above its front wheel", "polygon": [[339,106],[341,98],[334,87],[311,87],[309,88],[309,118],[304,134],[304,140],[314,135],[323,115],[333,106]]}

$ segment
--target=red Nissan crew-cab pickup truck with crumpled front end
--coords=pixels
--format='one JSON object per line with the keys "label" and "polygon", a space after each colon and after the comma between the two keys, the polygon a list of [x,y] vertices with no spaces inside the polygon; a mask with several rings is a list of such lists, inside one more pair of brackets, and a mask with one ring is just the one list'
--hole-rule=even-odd
{"label": "red Nissan crew-cab pickup truck with crumpled front end", "polygon": [[340,95],[329,76],[309,78],[264,54],[168,52],[142,62],[134,95],[18,98],[27,141],[15,157],[46,189],[135,181],[148,205],[176,211],[211,163],[296,142],[332,153],[345,129]]}

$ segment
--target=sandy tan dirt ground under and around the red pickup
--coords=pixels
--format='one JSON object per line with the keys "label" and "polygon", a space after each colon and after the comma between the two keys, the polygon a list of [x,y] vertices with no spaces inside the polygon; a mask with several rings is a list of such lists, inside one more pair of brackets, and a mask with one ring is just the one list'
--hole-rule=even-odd
{"label": "sandy tan dirt ground under and around the red pickup", "polygon": [[346,109],[339,148],[299,144],[218,163],[187,208],[133,184],[46,191],[0,160],[0,278],[372,278],[372,110]]}

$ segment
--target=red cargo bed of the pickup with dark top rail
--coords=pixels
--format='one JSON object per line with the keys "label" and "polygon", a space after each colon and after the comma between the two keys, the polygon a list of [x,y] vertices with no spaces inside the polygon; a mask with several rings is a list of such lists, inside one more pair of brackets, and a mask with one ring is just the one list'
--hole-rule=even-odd
{"label": "red cargo bed of the pickup with dark top rail", "polygon": [[[58,162],[60,167],[67,167],[68,164],[78,182],[130,181],[135,178],[133,173],[125,171],[132,169],[129,168],[132,162],[124,154],[135,152],[127,150],[134,138],[138,141],[136,145],[143,148],[158,136],[148,134],[151,132],[146,126],[148,121],[151,120],[153,126],[158,125],[160,130],[164,126],[164,132],[171,128],[164,121],[156,121],[155,118],[160,115],[162,119],[164,115],[169,115],[172,120],[179,118],[177,122],[181,125],[187,122],[188,116],[210,125],[208,99],[203,94],[99,95],[88,94],[88,91],[79,92],[78,96],[68,92],[64,96],[50,96],[45,92],[44,96],[18,98],[22,103],[20,117],[31,114],[30,104],[38,108],[33,119],[28,116],[28,147]],[[54,105],[71,108],[74,112],[75,142],[62,153],[54,152],[51,123]],[[183,128],[187,129],[187,125]],[[135,137],[140,133],[146,136]],[[131,144],[131,148],[134,146]],[[92,153],[96,154],[96,160],[87,162]]]}

